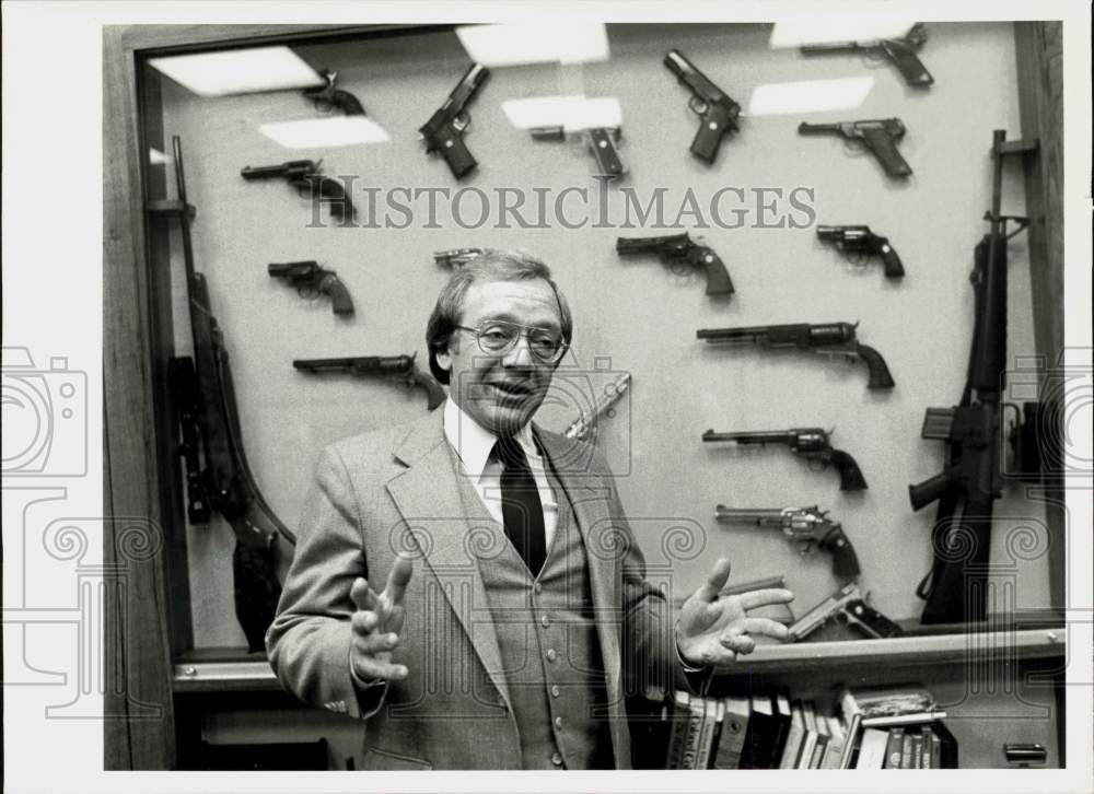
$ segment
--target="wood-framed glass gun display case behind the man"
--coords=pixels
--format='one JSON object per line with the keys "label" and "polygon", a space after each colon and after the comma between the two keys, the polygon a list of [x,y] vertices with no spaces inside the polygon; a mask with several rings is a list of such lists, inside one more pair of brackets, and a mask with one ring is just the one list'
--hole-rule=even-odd
{"label": "wood-framed glass gun display case behind the man", "polygon": [[[990,544],[973,622],[920,620],[932,560],[961,552],[932,550],[934,506],[907,495],[954,463],[923,417],[965,388],[986,211],[1032,219],[1008,246],[999,399],[1043,396],[1062,350],[1060,230],[1029,177],[1058,130],[1019,67],[1040,23],[913,23],[848,30],[877,45],[858,48],[792,21],[115,34],[128,82],[107,125],[133,180],[107,186],[108,223],[131,234],[108,277],[143,325],[113,343],[148,362],[135,390],[179,763],[201,739],[323,737],[334,768],[357,751],[357,724],[301,723],[276,691],[264,618],[247,627],[241,599],[276,597],[326,445],[443,399],[426,320],[487,248],[532,252],[568,295],[573,343],[537,421],[590,425],[667,597],[726,556],[731,584],[795,592],[772,615],[784,622],[853,583],[896,626],[872,633],[836,605],[816,633],[757,649],[758,680],[821,697],[921,678],[967,766],[1002,766],[1004,740],[1062,763],[1055,481],[1029,484],[1005,417],[989,428],[999,498],[973,539]],[[1005,159],[1001,188],[993,130],[1029,150]],[[218,462],[234,477],[202,474]],[[859,572],[817,526],[841,528]],[[247,532],[272,552],[241,562]],[[977,691],[988,679],[1002,693]],[[1022,727],[985,737],[988,716]]]}

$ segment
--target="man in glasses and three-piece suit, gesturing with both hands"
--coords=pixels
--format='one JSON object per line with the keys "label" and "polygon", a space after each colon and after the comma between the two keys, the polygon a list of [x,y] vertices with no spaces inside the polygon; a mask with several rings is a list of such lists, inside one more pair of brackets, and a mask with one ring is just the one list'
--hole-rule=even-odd
{"label": "man in glasses and three-piece suit, gesturing with both hands", "polygon": [[724,559],[674,619],[602,456],[532,423],[572,328],[543,262],[486,253],[427,327],[445,405],[319,460],[266,642],[368,720],[365,769],[626,769],[627,697],[787,639],[747,610],[792,594],[719,596]]}

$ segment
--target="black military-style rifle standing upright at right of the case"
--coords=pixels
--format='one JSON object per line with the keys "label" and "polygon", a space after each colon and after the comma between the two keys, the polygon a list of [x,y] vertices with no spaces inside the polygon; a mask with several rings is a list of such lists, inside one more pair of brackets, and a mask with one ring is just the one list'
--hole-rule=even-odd
{"label": "black military-style rifle standing upright at right of the case", "polygon": [[[1001,214],[1003,157],[1033,151],[1036,144],[1008,144],[1005,130],[991,142],[993,178],[991,224],[977,243],[973,265],[973,347],[961,404],[928,408],[922,437],[946,442],[942,472],[908,487],[912,510],[935,500],[939,510],[931,533],[934,561],[917,594],[926,598],[924,623],[984,620],[991,545],[991,514],[1002,488],[1001,388],[1006,366],[1006,241],[1028,224],[1025,218]],[[1006,233],[1006,223],[1017,229]]]}

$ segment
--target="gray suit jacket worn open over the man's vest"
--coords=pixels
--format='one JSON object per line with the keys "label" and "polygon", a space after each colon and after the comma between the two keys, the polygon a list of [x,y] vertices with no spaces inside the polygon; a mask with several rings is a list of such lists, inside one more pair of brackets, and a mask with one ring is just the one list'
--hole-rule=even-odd
{"label": "gray suit jacket worn open over the man's vest", "polygon": [[[365,769],[520,769],[516,722],[478,572],[482,533],[461,502],[443,411],[328,447],[305,502],[295,556],[266,637],[282,686],[307,703],[368,717]],[[624,694],[687,687],[673,620],[616,497],[583,442],[540,429],[580,525],[607,681],[616,767],[630,767]],[[359,690],[350,676],[350,586],[376,592],[398,552],[416,557],[395,661],[403,681]]]}

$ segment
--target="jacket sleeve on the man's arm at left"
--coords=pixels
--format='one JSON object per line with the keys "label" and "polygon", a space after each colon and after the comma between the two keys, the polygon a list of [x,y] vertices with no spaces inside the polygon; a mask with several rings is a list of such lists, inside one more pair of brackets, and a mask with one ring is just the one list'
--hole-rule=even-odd
{"label": "jacket sleeve on the man's arm at left", "polygon": [[366,717],[387,687],[359,687],[350,670],[353,580],[368,576],[358,500],[346,465],[327,448],[304,501],[296,549],[266,651],[281,686],[310,705]]}

